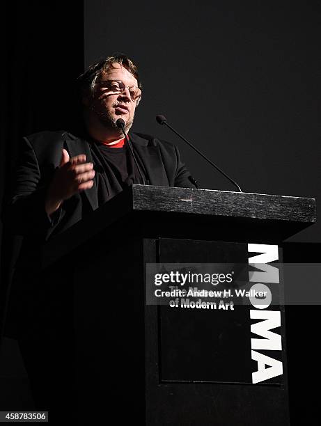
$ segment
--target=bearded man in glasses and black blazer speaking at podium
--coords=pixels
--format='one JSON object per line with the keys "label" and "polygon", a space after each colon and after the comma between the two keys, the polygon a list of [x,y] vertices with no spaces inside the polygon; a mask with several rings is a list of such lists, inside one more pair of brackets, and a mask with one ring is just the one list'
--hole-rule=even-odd
{"label": "bearded man in glasses and black blazer speaking at podium", "polygon": [[130,58],[108,56],[78,83],[84,130],[39,132],[22,141],[6,216],[31,244],[70,228],[130,184],[195,187],[175,145],[130,132],[142,93]]}

